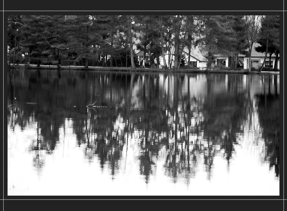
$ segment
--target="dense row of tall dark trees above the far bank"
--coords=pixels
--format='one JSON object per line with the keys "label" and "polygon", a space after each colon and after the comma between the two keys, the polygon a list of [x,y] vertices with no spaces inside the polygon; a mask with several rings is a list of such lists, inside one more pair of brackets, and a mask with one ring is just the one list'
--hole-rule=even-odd
{"label": "dense row of tall dark trees above the far bank", "polygon": [[279,16],[8,16],[9,52],[28,52],[39,58],[38,65],[40,57],[60,57],[86,68],[95,61],[101,66],[136,68],[137,48],[143,51],[144,59],[149,52],[157,61],[163,59],[163,68],[178,69],[184,49],[190,55],[191,48],[198,46],[208,61],[207,68],[211,68],[214,55],[232,56],[235,64],[239,54],[251,56],[255,42],[261,45],[258,52],[279,54]]}

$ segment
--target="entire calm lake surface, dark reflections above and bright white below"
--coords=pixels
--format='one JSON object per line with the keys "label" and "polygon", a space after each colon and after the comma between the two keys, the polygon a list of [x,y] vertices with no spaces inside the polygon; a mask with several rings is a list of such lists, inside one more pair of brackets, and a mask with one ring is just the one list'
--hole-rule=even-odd
{"label": "entire calm lake surface, dark reflections above and bright white below", "polygon": [[279,75],[15,70],[7,88],[8,195],[279,195]]}

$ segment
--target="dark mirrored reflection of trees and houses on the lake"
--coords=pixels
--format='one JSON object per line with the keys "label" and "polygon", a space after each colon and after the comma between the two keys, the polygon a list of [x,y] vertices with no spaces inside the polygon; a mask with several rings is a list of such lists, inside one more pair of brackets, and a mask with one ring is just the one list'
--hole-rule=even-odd
{"label": "dark mirrored reflection of trees and houses on the lake", "polygon": [[17,73],[8,74],[8,133],[36,132],[27,150],[38,171],[73,134],[111,179],[132,159],[146,184],[164,174],[189,185],[202,171],[212,180],[214,159],[229,168],[247,137],[279,177],[279,75]]}

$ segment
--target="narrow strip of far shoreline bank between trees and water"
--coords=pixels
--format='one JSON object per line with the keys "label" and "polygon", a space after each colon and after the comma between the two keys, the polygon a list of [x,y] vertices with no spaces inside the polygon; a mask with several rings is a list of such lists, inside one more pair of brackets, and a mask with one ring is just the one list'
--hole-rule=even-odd
{"label": "narrow strip of far shoreline bank between trees and water", "polygon": [[[45,69],[45,70],[57,70],[56,65],[21,65],[21,64],[10,64],[8,68],[19,68],[19,69]],[[91,70],[91,71],[128,71],[128,72],[165,72],[165,73],[236,73],[236,74],[279,74],[278,72],[257,72],[252,71],[248,73],[247,70],[197,70],[197,69],[159,69],[159,68],[117,68],[117,67],[81,67],[81,66],[61,66],[60,70]]]}

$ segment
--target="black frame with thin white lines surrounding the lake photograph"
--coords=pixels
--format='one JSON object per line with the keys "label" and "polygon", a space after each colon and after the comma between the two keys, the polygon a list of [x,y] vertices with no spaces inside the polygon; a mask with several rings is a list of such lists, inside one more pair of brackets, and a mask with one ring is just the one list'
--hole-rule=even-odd
{"label": "black frame with thin white lines surrounding the lake photograph", "polygon": [[[97,12],[97,14],[143,14],[143,15],[152,15],[152,14],[279,14],[280,15],[280,42],[282,43],[280,46],[280,56],[285,58],[284,54],[284,31],[285,31],[285,5],[284,1],[277,1],[276,4],[268,4],[266,5],[263,1],[247,1],[243,0],[234,4],[234,2],[221,0],[221,1],[199,1],[199,2],[175,2],[178,5],[170,5],[169,2],[155,2],[155,1],[147,1],[147,2],[134,2],[134,1],[125,1],[125,2],[89,2],[87,0],[81,2],[70,2],[67,4],[66,2],[60,1],[49,1],[49,2],[39,2],[36,0],[29,0],[29,1],[8,1],[4,0],[3,2],[3,111],[4,105],[6,105],[7,99],[7,62],[5,55],[5,46],[4,43],[7,42],[7,31],[6,24],[7,24],[7,15],[14,15],[14,14],[91,14]],[[272,2],[271,2],[272,3]],[[144,5],[143,5],[144,4]],[[86,10],[86,8],[94,8],[95,10]],[[182,9],[190,9],[187,11],[183,11]],[[266,10],[268,9],[268,10]],[[5,57],[5,59],[4,59]],[[285,60],[285,59],[283,59]],[[284,61],[280,62],[280,69],[284,70]],[[284,71],[280,73],[283,79],[283,83],[280,83],[281,89],[281,97],[280,98],[280,112],[282,111],[282,115],[280,118],[280,130],[282,131],[280,134],[280,154],[281,157],[283,155],[283,159],[281,159],[280,164],[280,195],[278,197],[274,196],[198,196],[198,197],[188,197],[188,196],[133,196],[131,193],[130,196],[7,196],[6,187],[7,187],[7,142],[5,139],[5,134],[3,132],[3,209],[4,207],[16,206],[19,204],[21,206],[29,207],[29,204],[36,203],[37,205],[44,205],[47,203],[63,203],[63,206],[67,206],[66,204],[70,204],[70,207],[75,208],[76,205],[84,205],[85,203],[91,202],[95,204],[93,200],[197,200],[197,202],[191,203],[198,203],[198,208],[213,208],[216,203],[219,203],[218,206],[226,206],[228,209],[233,208],[241,208],[241,209],[260,209],[267,210],[267,209],[278,209],[282,210],[284,208],[284,151],[286,146],[284,145]],[[281,80],[282,80],[281,79]],[[6,91],[4,91],[6,90]],[[5,112],[4,112],[5,113]],[[3,125],[5,125],[6,121],[4,121],[4,114],[3,114]],[[5,127],[3,126],[3,131]],[[5,172],[6,170],[6,172]],[[6,181],[6,182],[5,182]],[[33,201],[31,201],[33,200]],[[43,201],[44,200],[44,201]],[[49,200],[49,201],[46,201]],[[79,200],[82,203],[79,203]],[[202,201],[204,200],[204,201]],[[205,200],[208,200],[210,203],[206,203]],[[224,201],[222,201],[224,200]],[[64,205],[65,204],[65,205]],[[73,205],[74,204],[74,205]],[[168,209],[173,209],[170,202],[163,203],[164,206],[167,206]],[[173,203],[175,204],[175,203]],[[186,203],[185,206],[188,206]],[[247,205],[247,204],[250,204]],[[45,205],[44,205],[45,206]],[[92,206],[92,205],[91,205]],[[108,205],[109,206],[109,205]],[[118,206],[115,204],[115,206]],[[164,207],[163,206],[163,207]],[[185,208],[184,206],[184,208]],[[194,205],[188,206],[192,209]],[[84,209],[83,207],[79,209]],[[180,209],[180,204],[176,206]],[[281,209],[282,207],[282,209]],[[66,209],[66,207],[64,208]],[[9,209],[8,209],[9,210]],[[204,209],[205,210],[205,209]]]}

